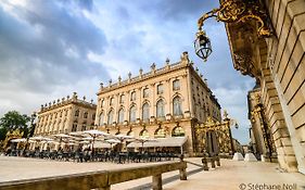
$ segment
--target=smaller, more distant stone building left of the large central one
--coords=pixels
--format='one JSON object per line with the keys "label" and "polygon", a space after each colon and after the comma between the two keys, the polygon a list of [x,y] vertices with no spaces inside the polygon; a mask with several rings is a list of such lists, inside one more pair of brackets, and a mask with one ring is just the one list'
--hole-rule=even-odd
{"label": "smaller, more distant stone building left of the large central one", "polygon": [[80,100],[74,92],[72,98],[67,96],[53,103],[41,105],[34,134],[48,136],[92,129],[96,111],[97,105],[92,100],[87,102],[85,97]]}

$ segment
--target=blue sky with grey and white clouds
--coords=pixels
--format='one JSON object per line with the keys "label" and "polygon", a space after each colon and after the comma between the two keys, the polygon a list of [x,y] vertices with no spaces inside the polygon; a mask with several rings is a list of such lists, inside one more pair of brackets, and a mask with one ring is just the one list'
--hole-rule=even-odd
{"label": "blue sky with grey and white clouds", "polygon": [[193,50],[196,20],[216,7],[214,0],[0,0],[0,116],[30,114],[73,91],[96,101],[100,81],[161,67],[166,58],[177,62],[188,51],[239,122],[233,136],[246,143],[254,80],[233,69],[224,24],[204,26],[213,46],[207,62]]}

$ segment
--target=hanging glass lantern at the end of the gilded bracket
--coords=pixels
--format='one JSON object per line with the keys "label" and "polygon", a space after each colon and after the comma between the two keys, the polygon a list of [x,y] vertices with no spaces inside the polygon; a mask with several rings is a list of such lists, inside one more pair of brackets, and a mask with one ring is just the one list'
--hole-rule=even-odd
{"label": "hanging glass lantern at the end of the gilded bracket", "polygon": [[200,30],[196,34],[194,41],[195,53],[199,58],[206,61],[207,56],[212,53],[211,41],[204,31]]}

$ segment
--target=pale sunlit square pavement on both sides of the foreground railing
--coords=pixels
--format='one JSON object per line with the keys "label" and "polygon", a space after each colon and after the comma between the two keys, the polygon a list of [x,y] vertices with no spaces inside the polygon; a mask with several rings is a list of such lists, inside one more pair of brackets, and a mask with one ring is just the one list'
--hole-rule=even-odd
{"label": "pale sunlit square pavement on both sides of the foreground railing", "polygon": [[[200,159],[187,159],[200,164]],[[0,156],[0,182],[59,176],[85,172],[143,166],[154,163],[73,163],[48,160]],[[160,163],[156,163],[160,164]],[[165,190],[305,190],[305,175],[282,173],[275,163],[221,160],[221,166],[203,172],[188,164],[188,180],[180,181],[178,172],[163,174]],[[151,177],[112,186],[112,190],[150,189]]]}

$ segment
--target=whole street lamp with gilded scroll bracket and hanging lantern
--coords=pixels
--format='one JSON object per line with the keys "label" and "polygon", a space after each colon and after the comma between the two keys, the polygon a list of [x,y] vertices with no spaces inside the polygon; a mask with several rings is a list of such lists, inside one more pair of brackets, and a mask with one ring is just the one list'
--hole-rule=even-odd
{"label": "whole street lamp with gilded scroll bracket and hanging lantern", "polygon": [[256,20],[257,35],[259,37],[270,37],[272,28],[269,24],[269,17],[260,4],[259,0],[223,0],[220,7],[203,14],[198,21],[199,31],[194,41],[196,55],[206,61],[212,53],[211,41],[205,31],[202,30],[203,23],[209,17],[216,17],[216,21],[225,23],[240,23],[247,20]]}

